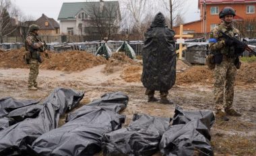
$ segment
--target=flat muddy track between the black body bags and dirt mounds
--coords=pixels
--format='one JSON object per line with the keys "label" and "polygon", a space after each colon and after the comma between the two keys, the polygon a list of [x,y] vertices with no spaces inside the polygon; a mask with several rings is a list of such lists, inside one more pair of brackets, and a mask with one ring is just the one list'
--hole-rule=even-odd
{"label": "flat muddy track between the black body bags and dirt mounds", "polygon": [[[127,116],[124,126],[129,124],[136,112],[172,117],[175,104],[186,110],[214,110],[211,85],[201,86],[197,83],[175,85],[168,96],[173,100],[174,105],[148,103],[144,94],[145,88],[141,82],[125,82],[121,78],[123,73],[121,70],[112,74],[104,74],[102,73],[104,66],[95,66],[81,72],[40,70],[38,84],[42,89],[36,92],[27,90],[28,69],[0,68],[0,98],[13,96],[18,99],[40,99],[49,95],[55,87],[61,86],[84,90],[86,93],[82,104],[86,104],[95,98],[100,98],[106,92],[123,91],[129,96],[129,104],[122,112]],[[156,94],[159,95],[158,92]],[[211,131],[211,143],[216,155],[256,155],[255,97],[254,86],[235,88],[234,106],[243,113],[243,116],[230,117],[228,122],[216,121]]]}

